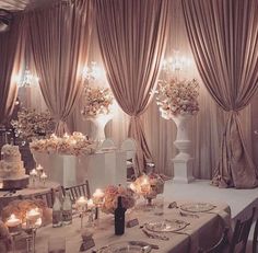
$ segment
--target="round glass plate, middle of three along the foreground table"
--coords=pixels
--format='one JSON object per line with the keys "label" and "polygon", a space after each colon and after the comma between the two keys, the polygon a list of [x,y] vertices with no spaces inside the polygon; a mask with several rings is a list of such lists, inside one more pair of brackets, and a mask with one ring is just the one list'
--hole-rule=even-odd
{"label": "round glass plate, middle of three along the foreground table", "polygon": [[145,228],[153,232],[174,232],[186,228],[189,223],[184,220],[160,220],[145,223]]}

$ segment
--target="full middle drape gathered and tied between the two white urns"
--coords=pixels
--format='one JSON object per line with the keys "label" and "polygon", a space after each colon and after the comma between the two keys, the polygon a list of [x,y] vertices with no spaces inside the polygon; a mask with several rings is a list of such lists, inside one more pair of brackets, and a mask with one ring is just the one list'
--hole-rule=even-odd
{"label": "full middle drape gathered and tied between the two white urns", "polygon": [[97,32],[113,93],[131,116],[129,137],[138,141],[138,172],[151,158],[140,115],[155,88],[165,41],[167,0],[97,0]]}

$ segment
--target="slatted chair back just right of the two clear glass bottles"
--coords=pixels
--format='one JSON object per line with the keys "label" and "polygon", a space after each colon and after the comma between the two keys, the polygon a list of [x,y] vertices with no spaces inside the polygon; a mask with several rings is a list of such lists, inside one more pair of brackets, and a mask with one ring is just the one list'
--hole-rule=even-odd
{"label": "slatted chair back just right of the two clear glass bottles", "polygon": [[86,180],[83,184],[73,185],[70,187],[62,187],[62,194],[66,195],[66,192],[70,194],[71,202],[74,204],[77,199],[81,196],[91,197],[89,181]]}

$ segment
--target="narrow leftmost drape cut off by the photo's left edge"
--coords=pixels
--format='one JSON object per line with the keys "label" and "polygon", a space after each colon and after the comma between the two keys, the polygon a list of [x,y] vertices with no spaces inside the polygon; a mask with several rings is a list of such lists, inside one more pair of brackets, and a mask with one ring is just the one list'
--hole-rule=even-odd
{"label": "narrow leftmost drape cut off by the photo's left edge", "polygon": [[16,15],[9,32],[0,35],[0,124],[8,123],[16,100],[24,53],[24,16]]}

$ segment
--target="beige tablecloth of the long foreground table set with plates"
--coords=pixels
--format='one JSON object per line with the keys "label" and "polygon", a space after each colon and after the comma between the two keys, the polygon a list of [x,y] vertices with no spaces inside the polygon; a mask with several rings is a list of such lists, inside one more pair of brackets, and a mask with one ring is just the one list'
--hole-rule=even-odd
{"label": "beige tablecloth of the long foreground table set with plates", "polygon": [[[178,206],[185,202],[178,202]],[[214,203],[213,203],[214,204]],[[148,243],[159,245],[159,250],[152,250],[152,252],[171,252],[171,253],[195,253],[199,246],[209,248],[221,237],[223,228],[230,226],[231,210],[226,204],[214,204],[215,208],[207,212],[195,212],[195,216],[181,216],[179,208],[168,209],[167,205],[164,207],[163,216],[155,216],[153,211],[143,211],[141,209],[134,209],[129,214],[130,218],[138,218],[139,226],[132,228],[126,228],[124,235],[114,234],[114,225],[112,225],[112,215],[102,215],[99,225],[94,228],[93,239],[95,241],[95,248],[93,250],[101,249],[102,246],[110,243],[136,240],[144,241]],[[128,218],[128,217],[127,217]],[[159,239],[150,239],[142,231],[140,226],[148,221],[161,220],[161,219],[178,219],[189,222],[185,229],[177,232],[166,232],[169,238],[168,241]],[[40,228],[36,237],[36,250],[37,253],[48,252],[48,239],[51,237],[66,237],[67,253],[80,252],[80,245],[82,243],[80,233],[80,220],[74,218],[72,225],[61,228],[51,228],[47,226]]]}

